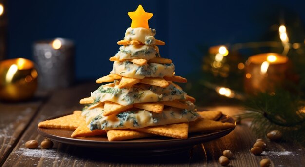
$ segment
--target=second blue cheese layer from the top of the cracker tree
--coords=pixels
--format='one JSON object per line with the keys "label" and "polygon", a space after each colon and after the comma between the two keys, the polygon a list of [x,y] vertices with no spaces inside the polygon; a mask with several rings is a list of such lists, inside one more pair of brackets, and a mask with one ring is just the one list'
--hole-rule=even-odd
{"label": "second blue cheese layer from the top of the cracker tree", "polygon": [[143,58],[146,60],[159,57],[160,54],[154,46],[147,45],[126,45],[121,46],[120,50],[115,54],[119,60]]}

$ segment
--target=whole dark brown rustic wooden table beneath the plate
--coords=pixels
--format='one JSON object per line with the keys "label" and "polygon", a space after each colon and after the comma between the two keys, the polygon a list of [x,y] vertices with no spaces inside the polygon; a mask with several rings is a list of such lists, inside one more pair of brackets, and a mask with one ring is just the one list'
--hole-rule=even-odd
{"label": "whole dark brown rustic wooden table beneath the plate", "polygon": [[[52,149],[27,149],[28,140],[44,138],[36,130],[38,122],[51,116],[71,113],[81,109],[79,99],[97,89],[97,84],[79,84],[58,90],[48,96],[36,97],[22,103],[0,103],[0,166],[3,167],[221,167],[218,158],[225,149],[234,153],[233,167],[259,167],[262,158],[271,160],[271,167],[304,167],[305,148],[292,143],[267,142],[267,149],[260,156],[250,153],[257,139],[251,133],[250,122],[237,125],[229,135],[194,146],[190,151],[174,155],[153,157],[118,157],[103,154],[102,149],[79,148],[55,143]],[[237,106],[205,107],[234,115],[242,112]]]}

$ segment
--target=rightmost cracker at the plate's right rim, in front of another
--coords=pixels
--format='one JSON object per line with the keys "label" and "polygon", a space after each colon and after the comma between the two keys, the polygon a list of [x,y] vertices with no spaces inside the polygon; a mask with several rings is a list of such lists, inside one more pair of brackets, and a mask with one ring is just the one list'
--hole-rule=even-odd
{"label": "rightmost cracker at the plate's right rim, in front of another", "polygon": [[189,133],[192,132],[210,132],[215,130],[224,130],[234,128],[235,125],[228,122],[213,121],[199,118],[189,123]]}

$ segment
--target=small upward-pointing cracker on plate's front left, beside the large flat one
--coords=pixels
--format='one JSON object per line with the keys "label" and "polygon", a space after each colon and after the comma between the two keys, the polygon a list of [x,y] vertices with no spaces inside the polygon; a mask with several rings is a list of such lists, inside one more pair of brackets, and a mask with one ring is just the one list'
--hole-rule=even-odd
{"label": "small upward-pointing cracker on plate's front left, beside the large flat one", "polygon": [[83,122],[71,134],[71,137],[75,138],[75,137],[101,136],[105,134],[106,134],[105,130],[90,131],[90,129],[86,125],[85,119],[83,119]]}

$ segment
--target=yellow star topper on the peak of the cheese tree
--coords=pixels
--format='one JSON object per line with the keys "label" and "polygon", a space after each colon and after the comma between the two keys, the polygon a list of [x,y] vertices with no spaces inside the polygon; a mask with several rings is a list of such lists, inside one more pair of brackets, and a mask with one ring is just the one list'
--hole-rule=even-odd
{"label": "yellow star topper on the peak of the cheese tree", "polygon": [[134,12],[128,12],[128,16],[132,19],[131,28],[143,27],[149,28],[148,20],[152,18],[152,13],[145,12],[142,5],[139,5]]}

